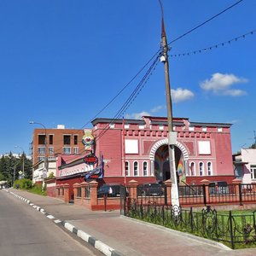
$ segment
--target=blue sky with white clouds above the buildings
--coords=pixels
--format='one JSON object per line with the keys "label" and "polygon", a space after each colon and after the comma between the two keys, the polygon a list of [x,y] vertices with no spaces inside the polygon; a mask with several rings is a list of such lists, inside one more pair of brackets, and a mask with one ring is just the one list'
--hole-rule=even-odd
{"label": "blue sky with white clouds above the buildings", "polygon": [[[162,2],[172,42],[238,1]],[[243,0],[170,44],[173,116],[232,123],[233,152],[254,142],[256,32],[194,51],[256,30],[255,9],[255,0]],[[40,127],[30,120],[48,128],[88,124],[160,49],[160,29],[157,0],[1,0],[0,154],[21,152],[15,145],[29,154]],[[125,117],[166,116],[163,68],[158,63]],[[113,118],[144,73],[99,117]]]}

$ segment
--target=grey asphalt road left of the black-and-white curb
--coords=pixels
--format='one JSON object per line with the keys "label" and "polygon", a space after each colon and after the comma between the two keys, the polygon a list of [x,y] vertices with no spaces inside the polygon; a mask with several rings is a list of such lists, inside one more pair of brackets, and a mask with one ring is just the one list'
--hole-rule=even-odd
{"label": "grey asphalt road left of the black-and-white curb", "polygon": [[102,253],[86,243],[82,244],[44,214],[0,190],[0,255],[84,256]]}

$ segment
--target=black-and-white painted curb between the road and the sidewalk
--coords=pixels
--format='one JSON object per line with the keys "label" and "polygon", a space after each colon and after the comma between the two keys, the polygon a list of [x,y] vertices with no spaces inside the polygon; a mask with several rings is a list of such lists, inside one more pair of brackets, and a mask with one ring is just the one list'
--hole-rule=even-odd
{"label": "black-and-white painted curb between the road and the sidewalk", "polygon": [[73,224],[70,224],[65,220],[61,221],[60,219],[55,218],[52,214],[45,212],[43,208],[36,206],[30,200],[20,195],[16,195],[14,192],[9,192],[8,189],[3,189],[3,190],[11,195],[14,195],[16,198],[20,199],[21,201],[25,201],[32,208],[34,208],[38,212],[43,213],[47,218],[52,220],[56,225],[62,225],[66,230],[72,232],[83,241],[89,243],[91,246],[95,247],[98,251],[102,252],[103,254],[107,256],[124,256],[123,253],[119,253],[118,251],[113,249],[113,247],[109,247],[107,244],[103,243],[102,241],[97,240],[96,237],[90,236],[89,234],[85,233],[83,230],[77,229],[75,226],[73,226]]}

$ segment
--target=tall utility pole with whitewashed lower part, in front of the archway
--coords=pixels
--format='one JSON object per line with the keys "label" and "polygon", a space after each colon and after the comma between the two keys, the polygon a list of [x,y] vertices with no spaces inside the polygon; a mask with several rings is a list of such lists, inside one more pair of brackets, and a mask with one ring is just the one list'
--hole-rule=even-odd
{"label": "tall utility pole with whitewashed lower part, in front of the archway", "polygon": [[[159,0],[160,2],[160,0]],[[162,12],[162,33],[161,33],[161,44],[162,44],[162,55],[160,61],[165,65],[165,78],[166,78],[166,104],[167,104],[167,120],[168,120],[168,150],[169,150],[169,165],[170,175],[172,180],[172,206],[179,207],[178,200],[178,189],[177,189],[177,175],[176,175],[176,164],[175,164],[175,144],[177,142],[177,132],[173,131],[172,122],[172,97],[171,97],[171,85],[169,75],[169,61],[168,61],[168,44],[166,38],[166,28],[164,22],[164,11],[162,3],[160,2]]]}

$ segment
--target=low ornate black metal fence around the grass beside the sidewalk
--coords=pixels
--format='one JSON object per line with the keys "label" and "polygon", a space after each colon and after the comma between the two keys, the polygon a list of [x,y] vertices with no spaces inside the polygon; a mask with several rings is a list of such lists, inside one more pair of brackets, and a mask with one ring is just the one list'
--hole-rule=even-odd
{"label": "low ornate black metal fence around the grass beside the sidewalk", "polygon": [[192,233],[231,248],[256,246],[256,211],[243,214],[218,213],[211,207],[193,211],[177,206],[158,205],[155,201],[131,200],[123,205],[121,214],[161,224],[174,230]]}

